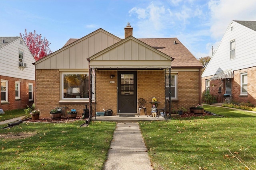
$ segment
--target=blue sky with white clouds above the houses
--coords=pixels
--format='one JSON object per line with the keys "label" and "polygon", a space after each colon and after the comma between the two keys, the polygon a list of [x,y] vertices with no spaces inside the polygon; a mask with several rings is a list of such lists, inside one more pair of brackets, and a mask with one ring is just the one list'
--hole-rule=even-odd
{"label": "blue sky with white clouds above the houses", "polygon": [[0,36],[42,34],[57,51],[102,28],[124,38],[177,37],[196,57],[212,56],[232,20],[256,20],[255,0],[0,0]]}

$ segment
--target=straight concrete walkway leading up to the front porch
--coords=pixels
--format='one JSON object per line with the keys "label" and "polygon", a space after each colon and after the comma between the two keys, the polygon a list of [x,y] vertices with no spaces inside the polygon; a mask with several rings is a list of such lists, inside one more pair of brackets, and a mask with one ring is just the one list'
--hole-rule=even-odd
{"label": "straight concrete walkway leading up to the front porch", "polygon": [[153,170],[138,123],[117,123],[104,170]]}

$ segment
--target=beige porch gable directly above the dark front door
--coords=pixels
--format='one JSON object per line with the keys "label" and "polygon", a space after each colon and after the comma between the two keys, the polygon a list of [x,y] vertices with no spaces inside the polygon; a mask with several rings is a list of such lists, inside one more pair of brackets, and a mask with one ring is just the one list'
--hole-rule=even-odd
{"label": "beige porch gable directly above the dark front door", "polygon": [[130,36],[89,58],[91,68],[171,68],[172,58]]}

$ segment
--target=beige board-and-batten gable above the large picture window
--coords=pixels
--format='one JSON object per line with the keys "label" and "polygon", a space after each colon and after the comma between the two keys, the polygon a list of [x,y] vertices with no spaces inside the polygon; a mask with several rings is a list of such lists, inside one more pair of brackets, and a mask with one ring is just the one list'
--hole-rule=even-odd
{"label": "beige board-and-batten gable above the large picture window", "polygon": [[36,62],[36,69],[88,69],[87,59],[121,41],[98,29]]}

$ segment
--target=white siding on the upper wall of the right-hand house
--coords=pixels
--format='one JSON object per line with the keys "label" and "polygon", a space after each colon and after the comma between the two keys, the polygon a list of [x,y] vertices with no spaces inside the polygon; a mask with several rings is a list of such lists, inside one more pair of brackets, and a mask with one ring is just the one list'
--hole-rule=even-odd
{"label": "white siding on the upper wall of the right-hand house", "polygon": [[[232,40],[235,40],[235,59],[230,59],[230,41]],[[202,77],[214,75],[218,69],[235,71],[256,66],[255,44],[256,31],[232,21]]]}

